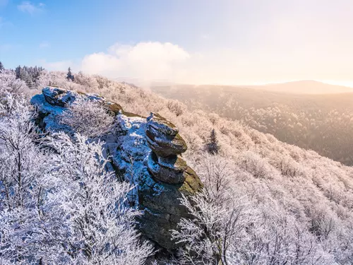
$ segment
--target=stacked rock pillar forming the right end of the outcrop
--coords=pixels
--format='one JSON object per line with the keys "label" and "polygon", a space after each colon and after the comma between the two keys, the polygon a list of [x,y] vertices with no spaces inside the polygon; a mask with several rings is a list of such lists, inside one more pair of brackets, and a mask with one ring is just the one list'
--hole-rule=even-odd
{"label": "stacked rock pillar forming the right end of the outcrop", "polygon": [[165,249],[175,249],[178,245],[171,240],[171,230],[178,229],[181,218],[190,218],[180,199],[201,191],[203,185],[181,158],[187,146],[174,124],[151,113],[145,133],[152,151],[147,160],[150,175],[145,175],[139,187],[140,206],[144,210],[140,229]]}

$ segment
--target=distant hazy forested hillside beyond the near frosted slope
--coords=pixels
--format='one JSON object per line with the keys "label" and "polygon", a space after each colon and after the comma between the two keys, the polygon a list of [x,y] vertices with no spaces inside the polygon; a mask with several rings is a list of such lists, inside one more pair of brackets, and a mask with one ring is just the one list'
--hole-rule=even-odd
{"label": "distant hazy forested hillside beyond the near frosted slope", "polygon": [[353,93],[304,95],[230,86],[155,86],[190,110],[237,119],[280,141],[353,165]]}

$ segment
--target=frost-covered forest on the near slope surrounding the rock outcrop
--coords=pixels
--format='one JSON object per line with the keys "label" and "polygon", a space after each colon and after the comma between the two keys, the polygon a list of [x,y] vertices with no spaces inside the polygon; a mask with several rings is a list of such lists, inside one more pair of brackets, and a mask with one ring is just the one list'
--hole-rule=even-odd
{"label": "frost-covered forest on the near slope surrounding the rock outcrop", "polygon": [[[0,264],[353,264],[352,167],[128,83],[0,71]],[[155,252],[140,237],[134,186],[107,167],[102,136],[116,120],[102,107],[72,105],[58,117],[70,133],[37,126],[30,98],[46,86],[179,128],[204,184],[180,202],[192,216],[172,232],[182,247]]]}

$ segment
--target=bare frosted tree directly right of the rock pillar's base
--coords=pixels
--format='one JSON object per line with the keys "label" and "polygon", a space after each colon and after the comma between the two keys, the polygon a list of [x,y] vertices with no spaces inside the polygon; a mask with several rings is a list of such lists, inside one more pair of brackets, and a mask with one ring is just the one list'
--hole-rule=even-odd
{"label": "bare frosted tree directly right of the rock pillar's base", "polygon": [[244,199],[233,195],[234,172],[223,160],[206,157],[201,177],[203,192],[191,201],[181,200],[193,219],[182,219],[173,236],[186,246],[180,250],[181,264],[234,264],[233,256],[242,230],[251,223],[246,218]]}

